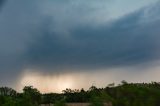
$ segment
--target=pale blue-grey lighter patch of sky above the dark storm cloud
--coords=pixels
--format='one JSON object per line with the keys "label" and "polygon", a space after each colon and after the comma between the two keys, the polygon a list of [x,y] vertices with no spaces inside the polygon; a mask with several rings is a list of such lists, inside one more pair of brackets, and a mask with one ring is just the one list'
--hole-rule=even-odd
{"label": "pale blue-grey lighter patch of sky above the dark storm cloud", "polygon": [[[132,13],[157,0],[68,0],[44,1],[42,12],[57,17],[57,21],[108,22]],[[79,19],[81,18],[81,19]],[[66,21],[65,21],[66,20]]]}

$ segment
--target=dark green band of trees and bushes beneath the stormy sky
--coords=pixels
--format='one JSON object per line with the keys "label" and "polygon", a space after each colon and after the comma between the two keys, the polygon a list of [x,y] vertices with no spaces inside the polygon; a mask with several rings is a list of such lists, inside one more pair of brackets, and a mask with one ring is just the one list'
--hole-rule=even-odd
{"label": "dark green band of trees and bushes beneath the stormy sky", "polygon": [[39,106],[54,103],[65,106],[65,103],[91,103],[91,106],[160,106],[160,83],[127,83],[122,81],[118,86],[109,84],[106,88],[90,87],[89,90],[63,90],[63,93],[41,94],[36,88],[26,86],[23,93],[17,93],[8,87],[0,88],[0,106]]}

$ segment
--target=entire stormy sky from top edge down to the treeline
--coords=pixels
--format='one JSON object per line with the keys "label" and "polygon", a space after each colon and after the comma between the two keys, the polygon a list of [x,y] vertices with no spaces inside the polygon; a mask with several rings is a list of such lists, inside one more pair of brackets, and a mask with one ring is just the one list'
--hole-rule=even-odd
{"label": "entire stormy sky from top edge down to the treeline", "polygon": [[1,0],[0,86],[159,82],[159,14],[159,0]]}

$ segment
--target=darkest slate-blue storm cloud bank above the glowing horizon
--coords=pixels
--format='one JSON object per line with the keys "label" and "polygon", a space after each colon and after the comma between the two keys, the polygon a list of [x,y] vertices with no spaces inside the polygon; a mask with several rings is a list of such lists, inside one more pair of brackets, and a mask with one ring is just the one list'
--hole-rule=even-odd
{"label": "darkest slate-blue storm cloud bank above the glowing horizon", "polygon": [[70,30],[69,41],[56,33],[42,31],[41,36],[35,38],[36,42],[28,47],[26,60],[38,67],[89,69],[159,60],[159,55],[154,53],[160,39],[158,13],[159,8],[145,8],[126,15],[111,26],[79,25]]}

